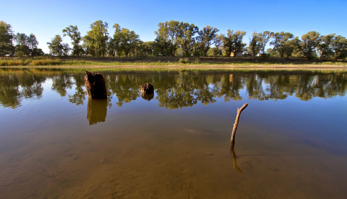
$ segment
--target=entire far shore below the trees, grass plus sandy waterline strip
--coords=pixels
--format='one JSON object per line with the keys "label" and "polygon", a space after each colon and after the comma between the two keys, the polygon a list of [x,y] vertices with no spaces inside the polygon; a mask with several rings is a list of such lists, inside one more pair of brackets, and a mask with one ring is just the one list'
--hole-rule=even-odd
{"label": "entire far shore below the trees, grass plus sandy waterline strip", "polygon": [[347,69],[346,60],[284,57],[26,57],[0,58],[0,67],[112,67],[216,69]]}

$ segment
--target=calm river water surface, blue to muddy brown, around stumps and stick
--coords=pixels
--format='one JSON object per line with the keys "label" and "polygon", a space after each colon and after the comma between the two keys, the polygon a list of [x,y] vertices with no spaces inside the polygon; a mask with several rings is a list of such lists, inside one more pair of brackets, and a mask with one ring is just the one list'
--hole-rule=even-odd
{"label": "calm river water surface, blue to muddy brown, around stumps and stick", "polygon": [[0,68],[0,198],[347,198],[346,71],[84,71]]}

